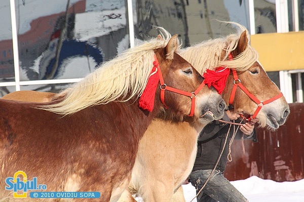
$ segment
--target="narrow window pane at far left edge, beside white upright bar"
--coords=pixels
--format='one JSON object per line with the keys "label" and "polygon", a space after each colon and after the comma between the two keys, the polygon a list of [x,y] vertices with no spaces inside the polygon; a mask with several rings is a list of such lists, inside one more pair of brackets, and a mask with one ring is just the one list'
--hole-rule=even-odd
{"label": "narrow window pane at far left edge, beside white upright bar", "polygon": [[0,81],[14,81],[14,56],[10,1],[0,1]]}

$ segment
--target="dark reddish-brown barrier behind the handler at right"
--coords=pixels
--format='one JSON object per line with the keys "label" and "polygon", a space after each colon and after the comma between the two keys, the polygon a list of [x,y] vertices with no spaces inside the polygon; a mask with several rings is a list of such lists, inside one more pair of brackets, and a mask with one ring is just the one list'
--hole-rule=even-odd
{"label": "dark reddish-brown barrier behind the handler at right", "polygon": [[277,182],[304,178],[304,104],[289,104],[290,115],[276,131],[257,128],[258,142],[235,140],[233,161],[224,175],[229,180],[246,179],[256,175]]}

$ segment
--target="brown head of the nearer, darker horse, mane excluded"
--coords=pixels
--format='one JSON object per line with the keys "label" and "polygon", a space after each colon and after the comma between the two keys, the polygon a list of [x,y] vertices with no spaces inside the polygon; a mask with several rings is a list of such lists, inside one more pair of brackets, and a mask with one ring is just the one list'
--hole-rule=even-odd
{"label": "brown head of the nearer, darker horse, mane excluded", "polygon": [[177,48],[177,35],[174,35],[166,47],[155,50],[165,82],[158,88],[158,93],[165,93],[163,103],[169,107],[167,112],[176,117],[194,114],[201,121],[221,118],[226,107],[223,99],[214,89],[202,84],[201,74],[175,53]]}

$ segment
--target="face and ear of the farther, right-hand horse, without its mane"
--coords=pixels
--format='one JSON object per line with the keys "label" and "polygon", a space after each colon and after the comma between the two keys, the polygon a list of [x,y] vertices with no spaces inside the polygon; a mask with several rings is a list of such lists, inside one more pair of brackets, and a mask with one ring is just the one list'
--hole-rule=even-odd
{"label": "face and ear of the farther, right-hand horse, without its mane", "polygon": [[[237,47],[231,52],[232,60],[240,60],[246,48],[249,48],[249,44],[245,30],[240,35]],[[236,71],[235,75],[232,71],[223,93],[225,102],[232,104],[237,113],[258,118],[262,127],[277,129],[284,124],[290,113],[289,105],[260,63],[256,60],[249,69]],[[235,95],[233,88],[236,89]]]}

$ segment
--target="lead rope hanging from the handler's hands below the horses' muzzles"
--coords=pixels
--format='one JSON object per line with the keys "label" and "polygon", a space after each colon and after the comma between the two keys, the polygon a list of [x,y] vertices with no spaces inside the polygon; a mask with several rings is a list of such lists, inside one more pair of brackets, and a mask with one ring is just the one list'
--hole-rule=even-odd
{"label": "lead rope hanging from the handler's hands below the horses' muzzles", "polygon": [[[243,120],[244,120],[244,118],[243,118]],[[243,120],[242,120],[242,121],[243,121]],[[221,121],[221,120],[217,120],[217,121]],[[224,146],[223,146],[222,150],[220,151],[220,154],[219,154],[219,156],[218,156],[218,158],[217,158],[216,164],[215,164],[214,168],[212,169],[212,171],[211,171],[209,177],[207,178],[206,182],[204,183],[204,185],[202,186],[202,188],[199,190],[199,192],[196,194],[196,196],[195,196],[194,198],[192,198],[192,200],[191,200],[190,202],[192,202],[196,197],[198,197],[198,195],[202,192],[203,188],[206,186],[207,182],[211,179],[211,176],[212,176],[212,174],[214,173],[214,171],[215,171],[215,169],[216,169],[216,167],[217,167],[217,165],[218,165],[218,162],[219,162],[219,160],[220,160],[220,158],[221,158],[221,156],[222,156],[222,154],[223,154],[223,152],[224,152],[224,149],[225,149],[225,146],[226,146],[226,143],[227,143],[227,139],[228,139],[228,136],[229,136],[229,132],[230,132],[231,126],[234,125],[234,126],[233,126],[233,138],[230,140],[230,143],[229,143],[229,154],[228,154],[228,156],[229,156],[229,155],[231,156],[231,154],[230,154],[230,153],[231,153],[231,144],[232,144],[232,142],[233,142],[233,139],[234,139],[234,137],[236,136],[237,131],[239,130],[240,126],[243,125],[243,124],[235,123],[234,121],[233,121],[233,123],[232,123],[232,122],[226,122],[226,121],[221,121],[221,122],[229,123],[229,124],[230,124],[229,129],[228,129],[227,134],[226,134],[226,137],[225,137]],[[236,128],[235,128],[236,125],[238,125],[237,130],[236,130]],[[228,159],[228,161],[229,161],[228,156],[227,156],[227,159]],[[232,157],[231,157],[231,161],[232,161]]]}

